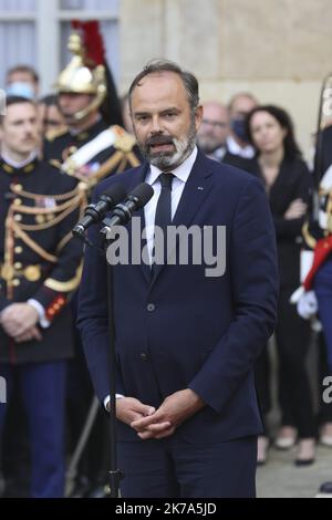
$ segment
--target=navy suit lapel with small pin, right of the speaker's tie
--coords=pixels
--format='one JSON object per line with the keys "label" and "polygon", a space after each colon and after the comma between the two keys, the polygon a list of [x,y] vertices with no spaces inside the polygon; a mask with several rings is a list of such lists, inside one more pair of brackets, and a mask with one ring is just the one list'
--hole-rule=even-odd
{"label": "navy suit lapel with small pin, right of the speaker's tie", "polygon": [[[190,227],[195,215],[206,200],[212,186],[212,174],[209,169],[209,162],[198,152],[196,162],[186,183],[180,201],[178,204],[172,226]],[[179,239],[178,239],[179,240]],[[168,251],[168,258],[173,251]],[[151,288],[155,283],[165,266],[156,266]]]}

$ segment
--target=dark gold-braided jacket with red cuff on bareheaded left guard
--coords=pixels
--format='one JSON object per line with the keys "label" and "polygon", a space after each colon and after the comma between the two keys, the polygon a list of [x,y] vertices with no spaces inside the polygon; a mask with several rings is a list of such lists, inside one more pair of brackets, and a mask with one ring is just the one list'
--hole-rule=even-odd
{"label": "dark gold-braided jacket with red cuff on bareheaded left guard", "polygon": [[21,169],[0,159],[0,312],[37,300],[51,323],[42,342],[15,344],[0,326],[0,361],[50,362],[72,352],[66,305],[80,280],[82,246],[71,230],[82,194],[75,181],[38,159]]}

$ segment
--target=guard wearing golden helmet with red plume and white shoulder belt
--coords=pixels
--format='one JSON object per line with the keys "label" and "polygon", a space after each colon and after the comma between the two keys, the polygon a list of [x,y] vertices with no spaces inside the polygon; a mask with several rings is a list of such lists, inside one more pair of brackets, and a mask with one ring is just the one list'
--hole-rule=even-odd
{"label": "guard wearing golden helmet with red plume and white shoulder belt", "polygon": [[120,126],[121,104],[97,22],[75,22],[73,28],[69,49],[74,58],[55,85],[68,128],[48,134],[44,158],[90,190],[137,166],[139,158],[135,138]]}

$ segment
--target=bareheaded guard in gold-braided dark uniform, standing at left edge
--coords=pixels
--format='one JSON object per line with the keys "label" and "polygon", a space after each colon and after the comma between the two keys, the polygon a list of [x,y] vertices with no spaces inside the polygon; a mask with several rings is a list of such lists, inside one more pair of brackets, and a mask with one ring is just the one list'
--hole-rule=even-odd
{"label": "bareheaded guard in gold-braided dark uniform, standing at left edge", "polygon": [[[0,119],[0,376],[20,385],[30,428],[31,497],[64,492],[68,305],[81,277],[72,228],[85,205],[76,183],[38,159],[33,102],[7,101]],[[8,405],[0,405],[0,433]]]}

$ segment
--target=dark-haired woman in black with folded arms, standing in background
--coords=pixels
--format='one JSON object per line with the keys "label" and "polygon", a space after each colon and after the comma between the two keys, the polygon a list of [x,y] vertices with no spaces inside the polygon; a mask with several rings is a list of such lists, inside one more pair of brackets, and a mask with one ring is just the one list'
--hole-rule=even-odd
{"label": "dark-haired woman in black with folded arms, standing in background", "polygon": [[[280,297],[276,342],[279,365],[281,428],[279,448],[290,448],[298,435],[295,464],[314,461],[315,426],[305,358],[310,324],[302,320],[290,295],[300,284],[301,228],[310,190],[310,174],[297,145],[289,114],[273,105],[258,106],[248,116],[248,132],[257,154],[252,173],[264,184],[274,220]],[[262,415],[269,410],[269,363],[266,351],[257,364],[256,383]],[[259,438],[258,462],[267,459],[268,435]]]}

